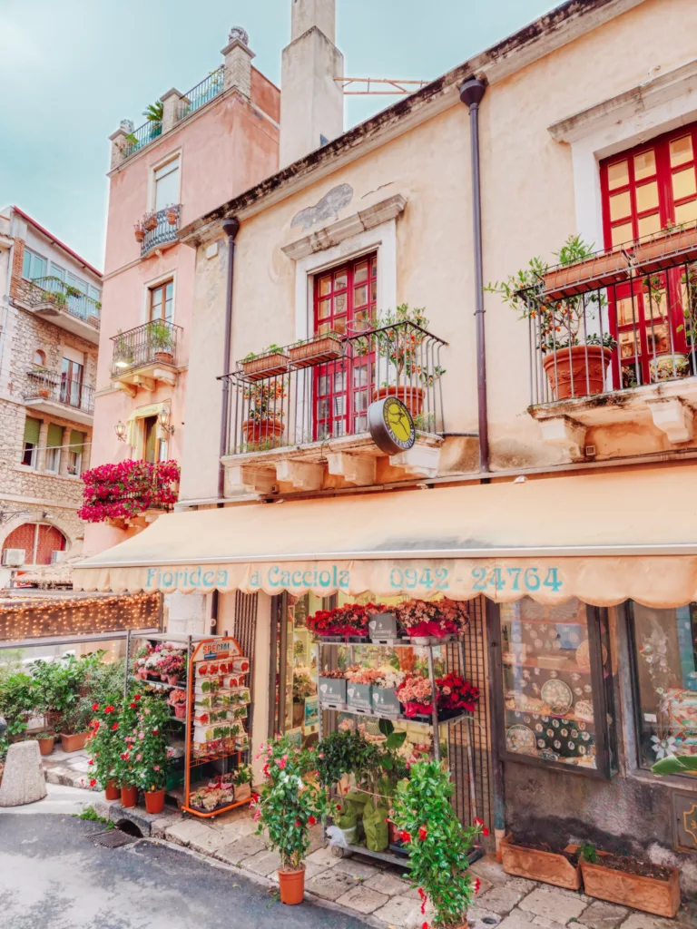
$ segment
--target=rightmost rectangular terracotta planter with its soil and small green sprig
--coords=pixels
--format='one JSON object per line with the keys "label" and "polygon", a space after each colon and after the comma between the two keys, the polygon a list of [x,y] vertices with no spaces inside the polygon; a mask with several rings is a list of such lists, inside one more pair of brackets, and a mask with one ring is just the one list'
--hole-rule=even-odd
{"label": "rightmost rectangular terracotta planter with its soil and small green sprig", "polygon": [[598,851],[592,843],[569,845],[578,850],[584,890],[598,900],[672,919],[680,908],[680,872],[637,858]]}

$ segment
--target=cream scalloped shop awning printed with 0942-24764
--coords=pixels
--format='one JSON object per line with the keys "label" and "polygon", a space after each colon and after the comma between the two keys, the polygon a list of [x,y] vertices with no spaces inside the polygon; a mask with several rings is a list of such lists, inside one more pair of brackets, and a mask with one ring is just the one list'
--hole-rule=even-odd
{"label": "cream scalloped shop awning printed with 0942-24764", "polygon": [[697,466],[241,504],[157,519],[85,590],[697,600]]}

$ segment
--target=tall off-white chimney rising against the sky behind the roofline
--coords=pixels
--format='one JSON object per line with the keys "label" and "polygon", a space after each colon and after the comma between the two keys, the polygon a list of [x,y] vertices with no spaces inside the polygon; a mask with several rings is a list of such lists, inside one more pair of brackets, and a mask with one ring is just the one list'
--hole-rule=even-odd
{"label": "tall off-white chimney rising against the sky behind the roofline", "polygon": [[283,49],[281,167],[344,131],[344,56],[335,46],[336,0],[291,0],[291,44]]}

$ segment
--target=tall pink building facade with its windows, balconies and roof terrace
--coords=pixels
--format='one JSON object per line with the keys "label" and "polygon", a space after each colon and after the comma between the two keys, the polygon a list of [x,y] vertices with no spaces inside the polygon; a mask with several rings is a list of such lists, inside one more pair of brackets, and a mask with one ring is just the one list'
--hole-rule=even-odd
{"label": "tall pink building facade with its windows, balconies and roof terrace", "polygon": [[[219,67],[185,94],[163,94],[159,118],[137,129],[126,120],[111,137],[93,465],[181,461],[194,350],[208,353],[215,389],[221,348],[205,326],[194,331],[196,256],[178,229],[278,167],[279,91],[253,67],[248,41],[233,29]],[[87,551],[122,541],[157,510],[137,517],[88,524]]]}

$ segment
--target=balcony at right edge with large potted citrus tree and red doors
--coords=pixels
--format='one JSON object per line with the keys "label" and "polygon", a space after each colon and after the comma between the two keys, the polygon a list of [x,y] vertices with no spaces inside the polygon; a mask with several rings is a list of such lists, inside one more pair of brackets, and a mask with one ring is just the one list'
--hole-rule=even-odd
{"label": "balcony at right edge with large potted citrus tree and red doors", "polygon": [[529,323],[529,411],[572,459],[586,431],[638,423],[693,438],[697,228],[679,228],[551,268],[520,292]]}

